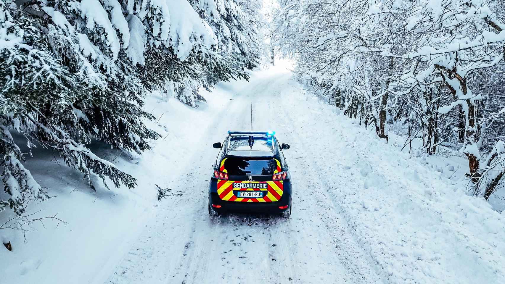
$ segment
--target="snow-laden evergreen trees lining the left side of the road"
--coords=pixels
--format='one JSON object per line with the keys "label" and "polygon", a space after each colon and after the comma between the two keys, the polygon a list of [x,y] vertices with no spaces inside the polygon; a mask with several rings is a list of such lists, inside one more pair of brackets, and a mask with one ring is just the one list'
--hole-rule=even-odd
{"label": "snow-laden evergreen trees lining the left side of the road", "polygon": [[[196,107],[200,90],[247,79],[259,63],[259,0],[0,0],[0,211],[20,215],[46,191],[23,165],[59,153],[90,175],[136,185],[87,144],[141,153],[160,135],[143,121],[149,91]],[[13,135],[13,134],[16,135]],[[13,138],[14,136],[14,138]]]}

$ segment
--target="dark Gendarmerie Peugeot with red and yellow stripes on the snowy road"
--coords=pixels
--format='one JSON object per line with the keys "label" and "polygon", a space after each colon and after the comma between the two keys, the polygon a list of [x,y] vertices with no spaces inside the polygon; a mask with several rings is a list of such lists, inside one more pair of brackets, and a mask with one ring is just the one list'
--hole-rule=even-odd
{"label": "dark Gendarmerie Peugeot with red and yellow stripes on the snowy road", "polygon": [[222,212],[291,215],[289,166],[275,132],[228,131],[209,183],[209,214]]}

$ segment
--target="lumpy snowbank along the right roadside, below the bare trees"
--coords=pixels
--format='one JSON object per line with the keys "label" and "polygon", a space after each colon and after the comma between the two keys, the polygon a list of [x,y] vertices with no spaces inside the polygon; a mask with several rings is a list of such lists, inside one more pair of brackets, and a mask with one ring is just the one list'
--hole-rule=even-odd
{"label": "lumpy snowbank along the right roadside, below the bare trees", "polygon": [[307,158],[383,282],[505,281],[503,214],[334,106],[295,88],[285,93],[296,113],[292,128],[313,149]]}

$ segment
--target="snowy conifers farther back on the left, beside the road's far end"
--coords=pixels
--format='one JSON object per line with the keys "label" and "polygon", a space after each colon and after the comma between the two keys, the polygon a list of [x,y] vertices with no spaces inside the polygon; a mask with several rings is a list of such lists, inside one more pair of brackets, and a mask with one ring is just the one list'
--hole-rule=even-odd
{"label": "snowy conifers farther back on the left, beside the road's far end", "polygon": [[[166,77],[163,90],[181,102],[195,107],[205,101],[200,88],[211,90],[220,81],[248,79],[246,69],[252,70],[259,62],[259,26],[262,25],[261,1],[190,0],[189,3],[212,29],[217,44],[205,52],[193,53],[185,68],[174,69],[171,62],[161,65],[162,70],[174,70],[174,77]],[[186,79],[177,74],[191,73]]]}

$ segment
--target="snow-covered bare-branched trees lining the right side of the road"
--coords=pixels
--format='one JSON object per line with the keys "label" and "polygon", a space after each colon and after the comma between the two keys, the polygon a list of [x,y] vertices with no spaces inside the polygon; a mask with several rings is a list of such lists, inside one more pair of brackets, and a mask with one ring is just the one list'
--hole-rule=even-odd
{"label": "snow-covered bare-branched trees lining the right side of the road", "polygon": [[[280,0],[277,52],[309,92],[387,139],[400,125],[468,159],[486,199],[505,174],[503,0]],[[394,142],[394,141],[393,141]]]}

